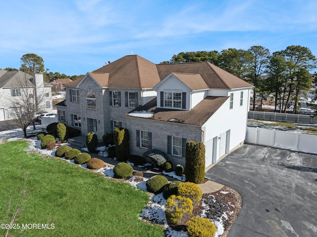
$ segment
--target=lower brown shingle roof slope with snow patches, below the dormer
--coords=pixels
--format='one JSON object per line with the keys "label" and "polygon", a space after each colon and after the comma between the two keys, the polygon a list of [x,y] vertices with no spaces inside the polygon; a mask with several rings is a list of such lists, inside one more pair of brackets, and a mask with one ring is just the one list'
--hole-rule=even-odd
{"label": "lower brown shingle roof slope with snow patches, below the dormer", "polygon": [[228,98],[227,96],[207,96],[191,110],[157,108],[157,99],[155,98],[124,116],[136,117],[133,116],[133,112],[147,111],[153,113],[153,116],[145,119],[202,126]]}

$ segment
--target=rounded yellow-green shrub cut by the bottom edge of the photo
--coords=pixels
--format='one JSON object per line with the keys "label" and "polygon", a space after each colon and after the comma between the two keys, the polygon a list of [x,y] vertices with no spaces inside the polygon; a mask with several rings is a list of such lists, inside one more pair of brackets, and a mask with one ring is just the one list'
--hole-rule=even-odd
{"label": "rounded yellow-green shrub cut by the bottom edge of the photo", "polygon": [[214,237],[216,227],[207,218],[192,217],[186,223],[189,237]]}

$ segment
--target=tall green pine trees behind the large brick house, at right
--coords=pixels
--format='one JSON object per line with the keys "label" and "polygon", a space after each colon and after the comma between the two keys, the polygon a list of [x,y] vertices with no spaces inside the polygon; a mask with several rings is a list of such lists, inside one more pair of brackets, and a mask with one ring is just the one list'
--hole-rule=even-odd
{"label": "tall green pine trees behind the large brick house, at right", "polygon": [[273,53],[262,46],[252,46],[247,50],[228,48],[220,52],[180,52],[174,54],[171,60],[161,63],[201,61],[209,61],[253,84],[253,110],[256,109],[257,95],[260,95],[262,102],[265,95],[272,94],[275,112],[286,113],[292,100],[293,113],[297,113],[300,96],[306,95],[315,83],[310,71],[316,69],[317,59],[308,47],[302,46],[288,46]]}

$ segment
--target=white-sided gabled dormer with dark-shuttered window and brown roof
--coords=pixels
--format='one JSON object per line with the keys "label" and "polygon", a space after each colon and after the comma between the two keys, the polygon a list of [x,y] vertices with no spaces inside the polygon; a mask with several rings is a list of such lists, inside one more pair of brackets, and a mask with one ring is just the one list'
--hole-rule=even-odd
{"label": "white-sided gabled dormer with dark-shuttered window and brown roof", "polygon": [[153,90],[158,92],[158,108],[190,110],[207,96],[209,88],[200,74],[169,73]]}

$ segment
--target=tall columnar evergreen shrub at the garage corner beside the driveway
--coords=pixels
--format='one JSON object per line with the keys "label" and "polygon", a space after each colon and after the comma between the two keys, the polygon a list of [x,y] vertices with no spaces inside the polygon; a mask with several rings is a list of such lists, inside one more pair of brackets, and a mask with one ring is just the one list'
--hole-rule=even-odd
{"label": "tall columnar evergreen shrub at the garage corner beside the driveway", "polygon": [[203,142],[186,143],[186,181],[202,184],[205,178],[205,145]]}

